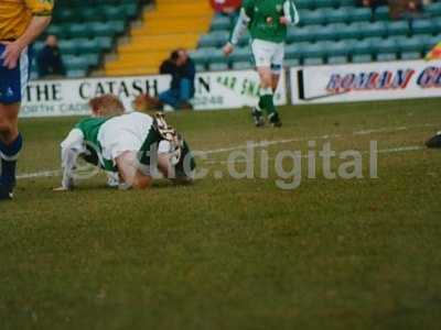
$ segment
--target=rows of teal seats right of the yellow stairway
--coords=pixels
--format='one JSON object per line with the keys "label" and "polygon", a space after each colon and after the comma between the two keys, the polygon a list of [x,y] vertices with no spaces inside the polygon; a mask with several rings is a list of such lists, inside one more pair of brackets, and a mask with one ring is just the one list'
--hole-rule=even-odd
{"label": "rows of teal seats right of the yellow stairway", "polygon": [[[427,4],[415,20],[394,21],[389,8],[373,11],[355,0],[298,0],[301,24],[290,28],[289,65],[318,65],[422,58],[441,41],[441,3]],[[244,36],[229,58],[219,55],[234,22],[216,15],[192,54],[200,69],[240,68],[250,58]],[[248,67],[248,66],[245,66]],[[244,67],[244,68],[245,68]]]}

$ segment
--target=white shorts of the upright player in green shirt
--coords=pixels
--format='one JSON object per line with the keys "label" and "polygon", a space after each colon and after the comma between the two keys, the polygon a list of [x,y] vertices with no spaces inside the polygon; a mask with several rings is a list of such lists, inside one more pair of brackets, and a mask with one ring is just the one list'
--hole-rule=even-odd
{"label": "white shorts of the upright player in green shirt", "polygon": [[252,56],[257,67],[270,67],[273,73],[280,73],[283,67],[284,43],[271,43],[263,40],[254,40],[251,43]]}

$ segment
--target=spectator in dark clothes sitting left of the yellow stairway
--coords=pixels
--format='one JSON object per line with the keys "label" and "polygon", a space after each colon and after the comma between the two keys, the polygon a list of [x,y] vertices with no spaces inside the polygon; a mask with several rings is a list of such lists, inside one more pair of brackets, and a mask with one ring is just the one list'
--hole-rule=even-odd
{"label": "spectator in dark clothes sitting left of the yellow stairway", "polygon": [[47,36],[46,44],[36,55],[36,65],[40,78],[66,74],[55,35]]}

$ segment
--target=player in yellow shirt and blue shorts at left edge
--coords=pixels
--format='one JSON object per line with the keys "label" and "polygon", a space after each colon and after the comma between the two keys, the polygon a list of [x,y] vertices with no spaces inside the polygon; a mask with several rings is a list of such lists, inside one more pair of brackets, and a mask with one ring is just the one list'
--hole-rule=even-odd
{"label": "player in yellow shirt and blue shorts at left edge", "polygon": [[0,0],[0,200],[12,198],[22,147],[18,121],[31,43],[51,22],[54,0]]}

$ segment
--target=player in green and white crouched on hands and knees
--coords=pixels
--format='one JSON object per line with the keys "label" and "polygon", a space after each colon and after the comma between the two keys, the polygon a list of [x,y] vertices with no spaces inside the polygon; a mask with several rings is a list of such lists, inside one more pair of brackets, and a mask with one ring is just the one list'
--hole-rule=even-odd
{"label": "player in green and white crouched on hands and knees", "polygon": [[[112,100],[103,106],[103,98]],[[106,102],[105,102],[106,103]],[[109,175],[109,185],[121,189],[150,187],[152,175],[159,169],[175,183],[190,183],[195,162],[187,143],[170,128],[163,114],[154,118],[141,112],[123,113],[121,102],[112,96],[90,101],[95,117],[77,123],[62,145],[62,187],[74,185],[78,156]],[[114,117],[108,117],[108,114]]]}

